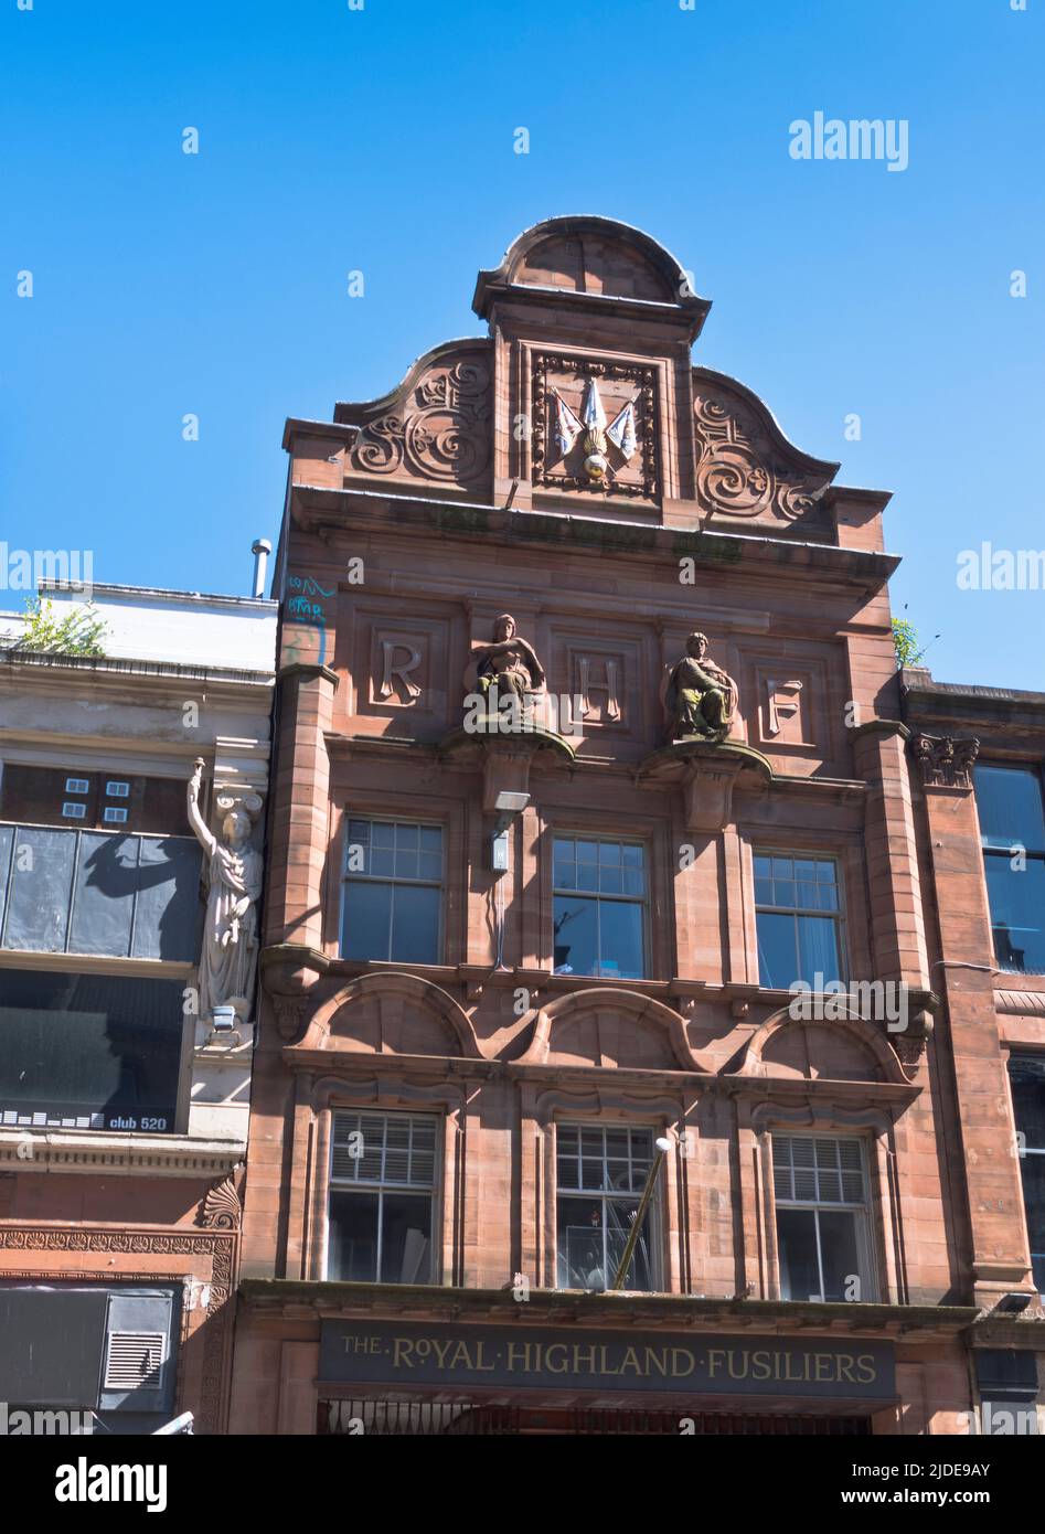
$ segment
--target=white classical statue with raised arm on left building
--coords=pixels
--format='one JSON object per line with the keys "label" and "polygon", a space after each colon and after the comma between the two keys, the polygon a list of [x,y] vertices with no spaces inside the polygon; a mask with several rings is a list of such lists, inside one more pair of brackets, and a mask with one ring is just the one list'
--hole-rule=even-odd
{"label": "white classical statue with raised arm on left building", "polygon": [[189,825],[207,853],[207,920],[199,957],[199,1016],[213,1019],[215,1006],[233,1006],[239,1022],[250,1016],[258,966],[258,911],[262,858],[250,847],[250,830],[261,810],[256,793],[241,799],[218,796],[227,811],[221,841],[199,813],[203,758],[189,779]]}

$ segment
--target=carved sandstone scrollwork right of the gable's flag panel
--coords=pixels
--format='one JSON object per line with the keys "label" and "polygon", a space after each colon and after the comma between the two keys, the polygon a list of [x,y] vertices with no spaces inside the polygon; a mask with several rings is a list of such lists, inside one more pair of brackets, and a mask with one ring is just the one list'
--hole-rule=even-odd
{"label": "carved sandstone scrollwork right of the gable's flag panel", "polygon": [[830,482],[803,472],[775,449],[753,411],[703,387],[695,400],[697,499],[724,517],[769,512],[786,522],[810,512]]}

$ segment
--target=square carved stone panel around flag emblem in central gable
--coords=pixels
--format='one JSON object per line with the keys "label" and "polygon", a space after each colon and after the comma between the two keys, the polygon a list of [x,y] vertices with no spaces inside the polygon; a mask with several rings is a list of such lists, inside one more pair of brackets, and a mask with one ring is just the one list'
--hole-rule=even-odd
{"label": "square carved stone panel around flag emblem in central gable", "polygon": [[[603,472],[594,483],[585,463],[592,457],[588,433],[577,431],[568,437],[563,453],[557,443],[557,411],[563,402],[579,420],[583,417],[583,400],[597,380],[608,385],[629,384],[629,400],[614,403],[614,416],[620,420],[617,405],[631,403],[626,426],[614,434],[612,428],[602,433],[598,457]],[[534,485],[551,485],[557,489],[598,489],[602,494],[637,495],[655,500],[660,495],[658,471],[658,388],[657,368],[643,362],[614,362],[611,359],[580,357],[566,353],[539,351],[532,357],[531,374],[532,431],[531,431],[531,477]],[[620,439],[620,440],[618,440]]]}

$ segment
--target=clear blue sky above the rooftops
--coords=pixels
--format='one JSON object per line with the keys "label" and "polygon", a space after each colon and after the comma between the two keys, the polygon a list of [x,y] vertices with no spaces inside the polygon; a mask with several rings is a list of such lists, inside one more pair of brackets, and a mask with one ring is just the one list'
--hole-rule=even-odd
{"label": "clear blue sky above the rooftops", "polygon": [[[698,360],[895,492],[936,675],[1045,689],[1045,592],[956,584],[984,538],[1045,548],[1045,0],[3,0],[0,60],[11,548],[246,592],[285,416],[480,333],[477,268],[594,212],[694,270]],[[908,169],[792,160],[818,110],[905,118]]]}

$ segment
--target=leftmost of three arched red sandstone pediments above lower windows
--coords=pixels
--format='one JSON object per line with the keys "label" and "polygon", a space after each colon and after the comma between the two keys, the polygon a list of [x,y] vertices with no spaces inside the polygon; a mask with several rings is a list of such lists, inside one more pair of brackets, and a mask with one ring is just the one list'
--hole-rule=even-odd
{"label": "leftmost of three arched red sandstone pediments above lower windows", "polygon": [[292,1049],[480,1055],[468,1014],[447,991],[413,974],[384,973],[361,976],[328,997]]}

